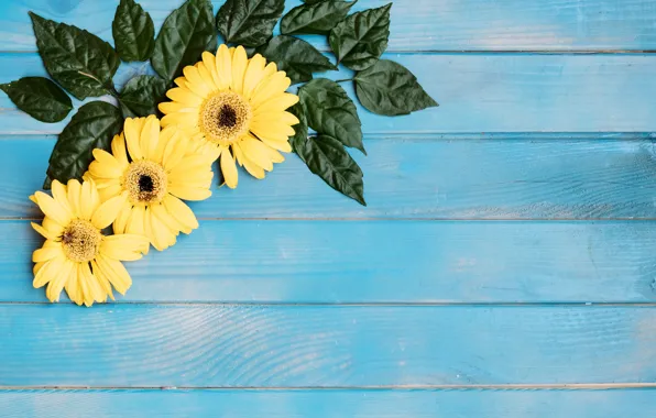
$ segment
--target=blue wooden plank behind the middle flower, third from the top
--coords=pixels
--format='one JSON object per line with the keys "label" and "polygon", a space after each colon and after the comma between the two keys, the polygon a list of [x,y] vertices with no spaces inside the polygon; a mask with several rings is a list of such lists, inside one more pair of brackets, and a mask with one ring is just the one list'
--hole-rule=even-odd
{"label": "blue wooden plank behind the middle flower, third from the top", "polygon": [[[295,155],[264,180],[242,172],[236,190],[212,186],[215,196],[193,207],[206,219],[654,219],[653,142],[626,138],[367,140],[369,156],[352,153],[365,173],[367,208]],[[43,184],[54,141],[0,139],[0,155],[12,156],[0,165],[0,218],[41,217],[28,196]]]}

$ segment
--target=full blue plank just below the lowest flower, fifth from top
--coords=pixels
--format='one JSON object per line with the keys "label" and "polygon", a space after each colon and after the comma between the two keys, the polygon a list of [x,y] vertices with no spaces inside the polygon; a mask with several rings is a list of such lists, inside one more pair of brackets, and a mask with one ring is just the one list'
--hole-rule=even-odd
{"label": "full blue plank just below the lowest flower, fifth from top", "polygon": [[654,323],[638,307],[3,305],[0,385],[654,383]]}

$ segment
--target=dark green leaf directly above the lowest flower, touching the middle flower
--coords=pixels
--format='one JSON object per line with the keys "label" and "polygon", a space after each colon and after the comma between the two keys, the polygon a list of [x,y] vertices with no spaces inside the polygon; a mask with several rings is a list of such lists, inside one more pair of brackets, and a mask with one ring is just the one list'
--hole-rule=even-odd
{"label": "dark green leaf directly above the lowest flower, touching the middle flower", "polygon": [[111,140],[122,127],[119,109],[110,103],[91,101],[79,108],[57,139],[47,167],[48,178],[62,183],[80,179],[94,160],[94,148],[110,151]]}

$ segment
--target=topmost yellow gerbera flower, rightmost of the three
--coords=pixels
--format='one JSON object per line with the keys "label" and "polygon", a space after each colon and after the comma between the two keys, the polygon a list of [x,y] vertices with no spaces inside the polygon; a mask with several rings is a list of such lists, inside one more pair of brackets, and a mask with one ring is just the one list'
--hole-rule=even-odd
{"label": "topmost yellow gerbera flower, rightmost of the three", "polygon": [[220,45],[216,56],[205,52],[183,73],[175,79],[178,87],[166,92],[173,101],[160,103],[162,125],[183,127],[200,143],[214,145],[228,187],[237,187],[234,158],[256,178],[285,160],[278,151],[292,151],[288,138],[298,123],[285,110],[298,97],[285,92],[291,80],[275,63],[266,64],[260,54],[249,59],[242,46]]}

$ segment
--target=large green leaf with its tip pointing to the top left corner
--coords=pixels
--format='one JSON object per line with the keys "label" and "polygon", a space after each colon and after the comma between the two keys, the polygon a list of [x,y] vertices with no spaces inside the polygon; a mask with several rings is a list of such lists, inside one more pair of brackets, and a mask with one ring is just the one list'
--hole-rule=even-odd
{"label": "large green leaf with its tip pointing to the top left corner", "polygon": [[30,16],[39,54],[55,81],[79,100],[113,89],[119,57],[110,44],[78,28],[32,12]]}

